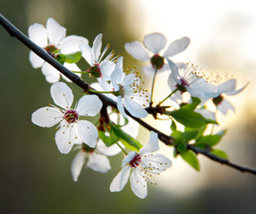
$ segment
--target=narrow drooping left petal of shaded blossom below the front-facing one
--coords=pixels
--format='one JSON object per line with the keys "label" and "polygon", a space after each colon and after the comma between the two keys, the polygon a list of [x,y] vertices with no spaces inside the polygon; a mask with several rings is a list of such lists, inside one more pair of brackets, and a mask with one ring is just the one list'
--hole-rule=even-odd
{"label": "narrow drooping left petal of shaded blossom below the front-facing one", "polygon": [[86,152],[81,150],[80,152],[78,152],[75,155],[75,157],[73,159],[73,162],[72,162],[72,165],[71,165],[71,173],[72,173],[74,182],[77,182],[78,177],[80,176],[81,169],[83,167],[85,158],[86,158]]}

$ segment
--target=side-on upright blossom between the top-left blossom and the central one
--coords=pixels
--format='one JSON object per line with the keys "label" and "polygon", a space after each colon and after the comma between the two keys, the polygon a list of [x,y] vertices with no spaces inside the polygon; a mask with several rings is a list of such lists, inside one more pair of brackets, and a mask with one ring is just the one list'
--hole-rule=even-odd
{"label": "side-on upright blossom between the top-left blossom and the central one", "polygon": [[100,53],[102,45],[102,34],[98,34],[93,41],[92,47],[90,45],[81,43],[80,49],[82,57],[90,64],[90,76],[98,79],[98,83],[101,86],[107,84],[107,80],[110,80],[113,70],[115,70],[115,60],[114,52],[108,53],[105,59],[104,55],[107,53],[109,45],[105,47],[102,53]]}

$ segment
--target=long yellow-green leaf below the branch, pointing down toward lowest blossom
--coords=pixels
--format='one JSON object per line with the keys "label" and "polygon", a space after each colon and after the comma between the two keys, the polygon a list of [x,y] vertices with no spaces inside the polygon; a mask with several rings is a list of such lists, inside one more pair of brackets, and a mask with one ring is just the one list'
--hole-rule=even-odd
{"label": "long yellow-green leaf below the branch, pointing down toward lowest blossom", "polygon": [[121,128],[117,127],[114,123],[108,123],[115,136],[120,140],[124,146],[132,151],[139,151],[142,147],[139,141],[134,139],[132,136],[126,134]]}

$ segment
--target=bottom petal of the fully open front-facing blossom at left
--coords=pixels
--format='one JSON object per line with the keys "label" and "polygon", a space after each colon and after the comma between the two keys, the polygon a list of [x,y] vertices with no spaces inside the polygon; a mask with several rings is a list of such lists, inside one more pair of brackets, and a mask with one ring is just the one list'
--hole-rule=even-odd
{"label": "bottom petal of the fully open front-facing blossom at left", "polygon": [[56,132],[55,143],[62,153],[71,151],[73,144],[78,142],[77,124],[65,124]]}

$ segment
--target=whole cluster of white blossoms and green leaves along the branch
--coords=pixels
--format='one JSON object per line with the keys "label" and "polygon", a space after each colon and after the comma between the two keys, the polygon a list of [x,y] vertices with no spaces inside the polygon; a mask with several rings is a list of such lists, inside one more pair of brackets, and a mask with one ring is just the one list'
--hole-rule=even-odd
{"label": "whole cluster of white blossoms and green leaves along the branch", "polygon": [[[135,67],[130,70],[130,66],[127,66],[124,69],[123,56],[115,56],[114,51],[109,52],[110,45],[101,52],[102,34],[98,34],[90,46],[87,38],[65,37],[65,32],[64,27],[49,18],[47,28],[38,23],[31,25],[29,37],[57,62],[78,73],[81,78],[81,74],[93,78],[94,83],[73,104],[72,89],[64,82],[59,82],[61,76],[58,70],[44,62],[36,53],[30,52],[33,68],[41,67],[47,82],[53,83],[50,94],[55,103],[33,112],[31,120],[43,128],[56,125],[55,144],[60,152],[66,154],[72,150],[78,151],[71,167],[75,182],[84,166],[107,173],[111,169],[107,156],[123,152],[122,169],[110,184],[110,191],[122,191],[130,177],[132,192],[139,198],[145,198],[148,193],[147,182],[155,184],[151,176],[159,175],[172,165],[166,156],[153,153],[159,149],[159,133],[152,131],[155,128],[145,126],[151,132],[149,142],[144,146],[136,139],[139,124],[133,119],[139,118],[141,121],[149,113],[155,119],[162,115],[171,119],[169,134],[173,141],[167,142],[166,146],[174,146],[175,157],[180,155],[194,169],[200,169],[197,153],[190,151],[188,144],[227,159],[225,152],[214,148],[225,132],[206,135],[204,131],[209,125],[214,127],[218,124],[217,111],[223,114],[228,110],[235,111],[235,107],[226,100],[226,95],[237,95],[245,86],[236,89],[235,78],[215,85],[192,62],[173,62],[170,58],[183,52],[190,44],[188,37],[175,40],[167,46],[164,53],[161,52],[166,47],[166,37],[161,33],[145,36],[145,47],[139,41],[124,45],[125,50],[134,58],[149,62],[143,70],[146,74],[154,74],[150,94],[143,88],[144,81]],[[81,59],[89,65],[88,68],[83,68],[86,71],[81,71],[76,65]],[[169,72],[166,79],[169,88],[166,87],[164,93],[169,89],[171,93],[166,94],[164,100],[156,101],[153,99],[154,82],[157,73],[163,70]],[[115,104],[105,103],[105,98],[102,97],[111,99]],[[174,103],[172,106],[163,105],[168,98]],[[216,111],[208,110],[209,102],[214,103]],[[183,125],[184,128],[178,129],[176,124]]]}

